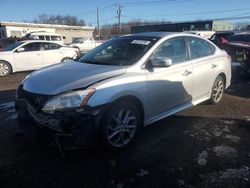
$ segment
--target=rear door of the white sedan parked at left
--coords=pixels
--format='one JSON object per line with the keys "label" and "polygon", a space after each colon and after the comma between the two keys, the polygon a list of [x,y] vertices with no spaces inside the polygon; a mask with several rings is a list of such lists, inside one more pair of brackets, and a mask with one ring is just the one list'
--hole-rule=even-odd
{"label": "rear door of the white sedan parked at left", "polygon": [[63,51],[60,44],[44,42],[43,48],[43,60],[44,66],[61,62],[63,59]]}

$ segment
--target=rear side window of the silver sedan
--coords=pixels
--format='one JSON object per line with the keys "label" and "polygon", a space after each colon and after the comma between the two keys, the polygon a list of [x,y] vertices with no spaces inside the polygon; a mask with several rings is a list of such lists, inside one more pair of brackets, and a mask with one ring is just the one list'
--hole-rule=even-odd
{"label": "rear side window of the silver sedan", "polygon": [[209,56],[212,55],[215,51],[213,45],[200,38],[188,37],[187,43],[190,48],[191,59]]}

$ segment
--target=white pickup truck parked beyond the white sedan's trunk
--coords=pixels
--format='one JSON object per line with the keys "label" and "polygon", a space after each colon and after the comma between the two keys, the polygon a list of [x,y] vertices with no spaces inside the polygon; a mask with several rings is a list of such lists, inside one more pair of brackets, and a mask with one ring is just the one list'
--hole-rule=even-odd
{"label": "white pickup truck parked beyond the white sedan's trunk", "polygon": [[81,52],[88,52],[100,44],[102,44],[102,42],[95,41],[93,37],[77,37],[73,39],[70,46],[78,48]]}

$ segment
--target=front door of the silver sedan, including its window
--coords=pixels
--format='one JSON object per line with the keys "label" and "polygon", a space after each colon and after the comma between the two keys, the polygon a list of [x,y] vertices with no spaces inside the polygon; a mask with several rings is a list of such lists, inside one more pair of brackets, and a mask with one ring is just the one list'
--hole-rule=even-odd
{"label": "front door of the silver sedan, including its window", "polygon": [[184,39],[178,37],[165,41],[151,56],[150,59],[172,60],[169,67],[152,67],[147,71],[152,116],[192,101],[192,64],[187,54]]}

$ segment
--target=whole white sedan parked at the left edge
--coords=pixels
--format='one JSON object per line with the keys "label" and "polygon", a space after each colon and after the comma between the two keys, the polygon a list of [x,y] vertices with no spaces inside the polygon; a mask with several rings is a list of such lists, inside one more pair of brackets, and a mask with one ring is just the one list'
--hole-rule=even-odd
{"label": "whole white sedan parked at the left edge", "polygon": [[0,52],[0,76],[68,61],[75,59],[78,54],[77,49],[54,42],[19,41]]}

